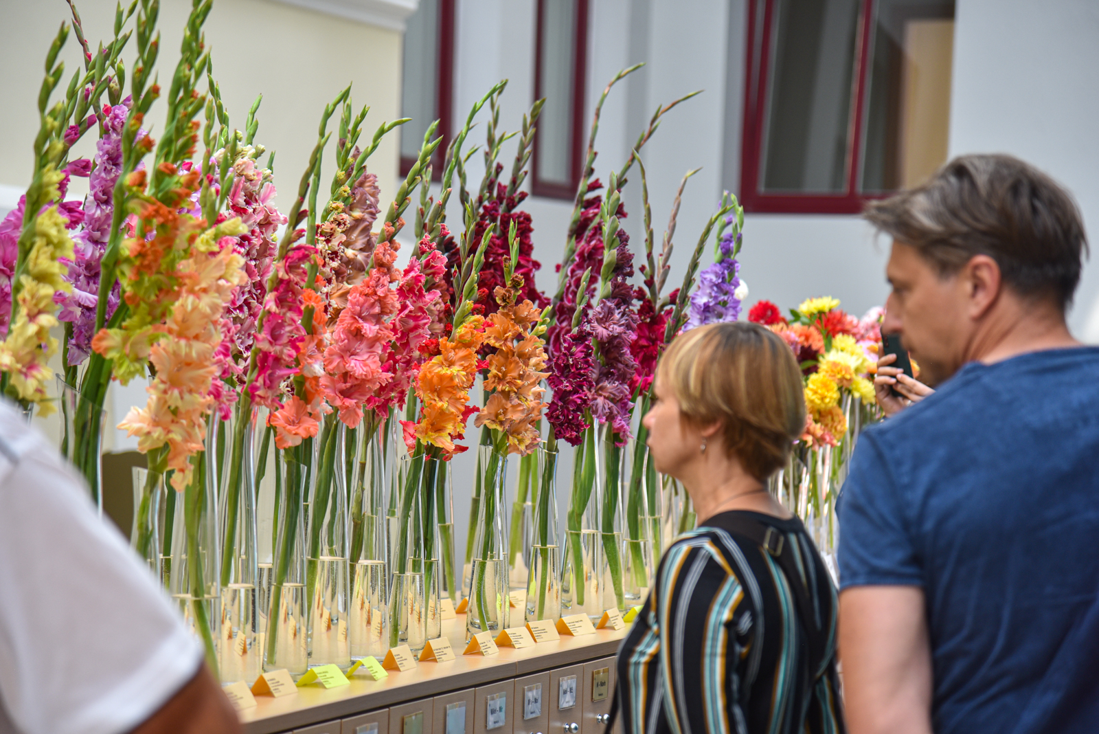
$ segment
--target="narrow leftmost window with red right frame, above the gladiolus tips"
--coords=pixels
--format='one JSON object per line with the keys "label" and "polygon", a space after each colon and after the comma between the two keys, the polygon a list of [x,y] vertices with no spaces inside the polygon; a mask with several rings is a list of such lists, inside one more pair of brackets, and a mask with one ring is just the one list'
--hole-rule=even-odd
{"label": "narrow leftmost window with red right frame, above the gladiolus tips", "polygon": [[404,30],[404,78],[401,82],[401,175],[420,154],[423,134],[439,120],[443,142],[435,149],[432,176],[437,180],[451,134],[454,92],[454,0],[420,0]]}

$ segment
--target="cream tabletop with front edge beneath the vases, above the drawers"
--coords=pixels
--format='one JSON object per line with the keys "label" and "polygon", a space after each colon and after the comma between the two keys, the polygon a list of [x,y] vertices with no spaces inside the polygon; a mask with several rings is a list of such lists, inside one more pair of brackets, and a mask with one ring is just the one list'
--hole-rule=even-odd
{"label": "cream tabletop with front edge beneath the vases, above the drawers", "polygon": [[[518,610],[513,610],[518,611]],[[623,630],[596,630],[595,634],[544,642],[526,649],[500,647],[498,655],[462,655],[465,649],[466,615],[443,622],[443,635],[451,641],[457,658],[447,663],[419,663],[412,670],[390,670],[388,678],[374,680],[365,670],[351,677],[349,686],[325,689],[302,686],[296,696],[257,696],[255,708],[240,712],[246,734],[275,734],[299,726],[340,719],[355,713],[385,709],[404,701],[439,696],[447,691],[482,686],[540,670],[574,665],[614,655]],[[380,660],[379,660],[380,661]]]}

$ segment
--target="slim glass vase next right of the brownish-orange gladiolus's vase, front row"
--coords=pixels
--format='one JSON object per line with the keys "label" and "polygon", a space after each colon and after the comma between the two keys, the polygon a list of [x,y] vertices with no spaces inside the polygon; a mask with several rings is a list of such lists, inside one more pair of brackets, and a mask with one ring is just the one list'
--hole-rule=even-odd
{"label": "slim glass vase next right of the brownish-orange gladiolus's vase, front row", "polygon": [[556,442],[537,448],[530,574],[524,618],[528,622],[560,618],[560,543],[557,533]]}

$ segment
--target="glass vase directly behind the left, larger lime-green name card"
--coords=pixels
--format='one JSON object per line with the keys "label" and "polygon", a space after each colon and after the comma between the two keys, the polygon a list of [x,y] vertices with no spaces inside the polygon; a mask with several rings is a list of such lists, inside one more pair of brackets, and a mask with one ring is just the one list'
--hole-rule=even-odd
{"label": "glass vase directly behind the left, larger lime-green name card", "polygon": [[[309,501],[306,586],[309,604],[309,665],[351,667],[347,611],[351,607],[347,487],[344,456],[347,426],[325,416]],[[354,457],[353,457],[354,458]]]}

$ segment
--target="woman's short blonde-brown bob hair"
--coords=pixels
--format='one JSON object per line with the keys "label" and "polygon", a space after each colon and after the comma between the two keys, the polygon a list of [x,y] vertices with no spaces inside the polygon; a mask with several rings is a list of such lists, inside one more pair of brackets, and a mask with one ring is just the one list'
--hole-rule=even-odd
{"label": "woman's short blonde-brown bob hair", "polygon": [[686,421],[721,424],[725,451],[759,481],[786,463],[806,427],[793,353],[759,324],[707,324],[680,334],[656,374]]}

